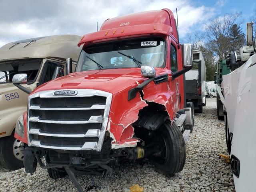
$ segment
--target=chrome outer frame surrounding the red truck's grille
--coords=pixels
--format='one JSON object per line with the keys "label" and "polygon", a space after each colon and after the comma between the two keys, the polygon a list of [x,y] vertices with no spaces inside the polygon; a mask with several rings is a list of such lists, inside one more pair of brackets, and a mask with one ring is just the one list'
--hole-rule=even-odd
{"label": "chrome outer frame surrounding the red truck's grille", "polygon": [[[65,90],[67,90],[67,89],[65,89]],[[38,146],[38,147],[44,147],[44,148],[63,149],[63,150],[96,150],[98,152],[101,151],[102,144],[103,144],[103,141],[104,141],[105,132],[106,132],[106,128],[107,128],[107,124],[108,124],[108,115],[109,115],[109,111],[110,111],[110,105],[111,105],[111,102],[112,102],[112,94],[108,93],[108,92],[105,92],[105,91],[93,90],[93,89],[72,89],[72,90],[78,91],[78,94],[76,94],[74,96],[58,96],[58,98],[60,98],[60,97],[91,97],[91,96],[104,96],[104,97],[106,97],[106,104],[105,104],[104,115],[103,115],[103,118],[101,117],[102,118],[102,122],[101,122],[102,123],[102,128],[101,128],[100,133],[99,133],[98,143],[95,144],[94,142],[86,142],[82,148],[77,148],[77,147],[42,146],[40,144],[40,141],[38,141],[38,140],[37,140],[37,142],[35,142],[35,140],[30,141],[29,120],[31,118],[31,115],[30,115],[30,110],[29,109],[33,105],[33,104],[31,104],[30,100],[32,98],[36,98],[36,97],[40,97],[40,98],[56,98],[56,96],[54,96],[53,93],[56,92],[56,91],[62,91],[62,90],[48,90],[48,91],[42,91],[42,92],[34,93],[34,94],[32,94],[32,95],[30,95],[28,97],[28,121],[27,121],[28,122],[27,123],[28,146]],[[54,110],[56,110],[56,109],[54,109]],[[95,121],[95,123],[96,122],[98,123],[98,121],[96,121],[96,120],[94,120],[94,121]],[[65,123],[68,123],[68,122],[70,122],[72,124],[72,123],[78,122],[78,121],[63,121],[62,123],[65,124]],[[54,121],[52,123],[56,123],[56,121]],[[86,123],[88,123],[88,122],[86,122]],[[94,122],[91,121],[90,123],[94,123]],[[89,144],[89,143],[94,143],[94,147],[95,146],[96,147],[95,148],[91,147],[91,146],[88,147],[88,145],[92,145],[92,144]]]}

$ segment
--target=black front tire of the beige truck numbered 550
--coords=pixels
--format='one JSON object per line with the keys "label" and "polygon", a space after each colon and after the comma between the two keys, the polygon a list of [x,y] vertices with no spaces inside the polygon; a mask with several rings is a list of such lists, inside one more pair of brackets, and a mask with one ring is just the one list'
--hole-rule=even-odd
{"label": "black front tire of the beige truck numbered 550", "polygon": [[[20,140],[14,138],[14,133],[10,136],[0,138],[0,164],[6,169],[17,170],[24,167],[23,160],[19,160],[14,154],[14,144],[21,143]],[[24,158],[20,150],[16,154],[19,158]]]}

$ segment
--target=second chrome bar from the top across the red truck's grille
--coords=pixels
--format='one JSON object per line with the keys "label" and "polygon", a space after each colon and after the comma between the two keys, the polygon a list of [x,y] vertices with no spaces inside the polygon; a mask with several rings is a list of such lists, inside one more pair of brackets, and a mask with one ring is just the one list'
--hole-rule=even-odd
{"label": "second chrome bar from the top across the red truck's grille", "polygon": [[102,123],[102,116],[91,116],[88,121],[55,121],[39,119],[39,116],[32,116],[28,119],[30,122],[40,123],[56,123],[56,124],[87,124],[87,123]]}

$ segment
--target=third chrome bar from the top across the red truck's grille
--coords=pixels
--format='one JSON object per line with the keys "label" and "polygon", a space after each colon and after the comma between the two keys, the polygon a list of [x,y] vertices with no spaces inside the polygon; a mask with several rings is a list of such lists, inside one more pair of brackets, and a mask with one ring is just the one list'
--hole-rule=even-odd
{"label": "third chrome bar from the top across the red truck's grille", "polygon": [[83,138],[83,137],[99,137],[100,130],[99,129],[89,129],[86,134],[59,134],[59,133],[47,133],[41,132],[40,128],[31,128],[29,131],[30,134],[34,135],[42,135],[42,136],[52,136],[52,137],[75,137],[75,138]]}

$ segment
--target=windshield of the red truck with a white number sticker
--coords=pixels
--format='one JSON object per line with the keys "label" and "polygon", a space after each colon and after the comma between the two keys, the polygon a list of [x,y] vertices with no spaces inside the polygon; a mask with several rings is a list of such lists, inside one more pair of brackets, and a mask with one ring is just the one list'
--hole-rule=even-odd
{"label": "windshield of the red truck with a white number sticker", "polygon": [[96,44],[85,47],[76,71],[135,68],[142,65],[164,67],[165,41],[143,38]]}

